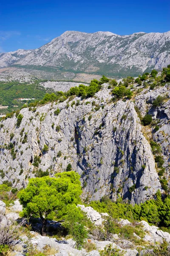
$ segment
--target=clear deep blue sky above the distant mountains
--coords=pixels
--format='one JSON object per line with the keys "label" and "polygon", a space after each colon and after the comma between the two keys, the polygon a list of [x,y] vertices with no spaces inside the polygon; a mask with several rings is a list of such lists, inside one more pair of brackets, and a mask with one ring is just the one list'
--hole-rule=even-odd
{"label": "clear deep blue sky above the distant mountains", "polygon": [[66,30],[167,32],[170,0],[0,1],[0,52],[34,49]]}

